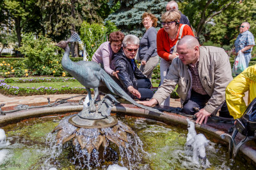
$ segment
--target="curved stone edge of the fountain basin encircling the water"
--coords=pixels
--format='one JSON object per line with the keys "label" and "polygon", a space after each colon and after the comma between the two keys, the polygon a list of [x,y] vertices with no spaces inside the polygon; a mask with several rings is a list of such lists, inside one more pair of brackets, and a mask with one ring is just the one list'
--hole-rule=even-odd
{"label": "curved stone edge of the fountain basin encircling the water", "polygon": [[[43,104],[43,103],[42,103]],[[3,108],[11,109],[12,108]],[[60,113],[71,113],[71,112],[78,112],[83,110],[83,105],[79,105],[78,103],[65,103],[60,104],[55,107],[49,108],[36,108],[31,110],[23,110],[15,113],[8,113],[6,115],[0,115],[0,128],[4,125],[11,124],[13,122],[20,122],[20,120],[24,120],[27,118],[33,117],[42,117],[45,115],[54,115]],[[112,108],[112,113],[118,113],[121,115],[127,115],[131,117],[145,117],[145,118],[152,118],[154,120],[158,120],[160,122],[172,123],[175,125],[180,125],[186,127],[188,122],[186,118],[182,115],[178,115],[176,113],[167,113],[164,112],[164,115],[160,115],[159,113],[154,113],[148,110],[144,110],[138,108],[132,104],[118,104]],[[223,124],[219,122],[209,121],[207,124],[195,124],[195,128],[204,134],[209,134],[211,140],[214,142],[225,143],[228,146],[228,139],[221,139],[220,135],[227,133],[228,129],[232,127],[231,124]],[[244,138],[243,136],[237,135],[237,140],[241,140]],[[256,164],[256,144],[255,141],[248,141],[248,143],[241,146],[240,149],[243,155],[246,155],[246,160],[249,162],[254,162]],[[252,160],[252,161],[251,161]]]}

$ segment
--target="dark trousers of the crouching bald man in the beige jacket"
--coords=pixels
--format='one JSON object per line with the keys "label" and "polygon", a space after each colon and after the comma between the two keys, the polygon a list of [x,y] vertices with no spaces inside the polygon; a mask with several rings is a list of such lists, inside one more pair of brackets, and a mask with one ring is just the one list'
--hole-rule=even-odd
{"label": "dark trousers of the crouching bald man in the beige jacket", "polygon": [[[196,93],[194,90],[191,91],[191,97],[187,103],[184,104],[182,112],[188,115],[194,115],[196,111],[193,109],[194,107],[202,109],[205,107],[205,104],[209,101],[211,97],[209,95],[202,95]],[[220,117],[232,118],[229,115],[228,107],[226,101],[221,106],[219,111]]]}

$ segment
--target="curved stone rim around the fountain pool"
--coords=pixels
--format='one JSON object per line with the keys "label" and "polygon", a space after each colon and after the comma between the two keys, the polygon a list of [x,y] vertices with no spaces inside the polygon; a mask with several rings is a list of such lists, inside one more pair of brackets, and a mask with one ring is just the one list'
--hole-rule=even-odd
{"label": "curved stone rim around the fountain pool", "polygon": [[[0,115],[0,128],[4,125],[12,124],[13,122],[20,122],[26,118],[35,118],[35,117],[42,117],[46,115],[55,115],[60,113],[72,113],[72,112],[79,112],[83,110],[83,106],[81,105],[72,105],[72,106],[56,106],[56,107],[49,107],[49,108],[37,108],[31,110],[22,110],[16,113],[10,113],[7,115]],[[159,120],[161,122],[166,120],[170,122],[175,122],[176,124],[188,125],[186,118],[182,115],[178,115],[176,113],[166,113],[164,115],[160,115],[159,113],[154,113],[148,110],[144,110],[142,108],[138,108],[132,104],[119,104],[118,106],[113,106],[112,112],[114,113],[123,113],[123,114],[131,114],[135,117],[147,117],[154,120]],[[191,118],[189,118],[191,120]],[[195,121],[194,121],[195,122]],[[228,139],[221,139],[220,135],[224,134],[224,131],[220,129],[216,129],[211,127],[207,124],[195,124],[195,128],[207,132],[207,134],[211,134],[212,136],[218,138],[220,141],[225,141],[228,143]],[[248,158],[253,160],[256,163],[256,150],[253,150],[247,143],[241,146],[240,151],[246,155]]]}

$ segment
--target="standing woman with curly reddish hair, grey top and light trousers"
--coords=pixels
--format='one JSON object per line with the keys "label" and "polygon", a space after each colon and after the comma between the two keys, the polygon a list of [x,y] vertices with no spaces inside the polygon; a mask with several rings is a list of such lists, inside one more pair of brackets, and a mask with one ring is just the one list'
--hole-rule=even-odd
{"label": "standing woman with curly reddish hair, grey top and light trousers", "polygon": [[141,60],[140,71],[151,80],[154,67],[159,62],[156,51],[156,26],[157,18],[151,13],[143,13],[142,23],[146,29],[145,34],[140,39],[138,55]]}

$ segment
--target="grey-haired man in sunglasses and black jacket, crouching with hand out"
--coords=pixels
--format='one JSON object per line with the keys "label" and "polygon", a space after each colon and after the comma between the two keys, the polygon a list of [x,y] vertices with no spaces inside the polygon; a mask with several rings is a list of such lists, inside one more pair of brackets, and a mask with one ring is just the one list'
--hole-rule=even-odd
{"label": "grey-haired man in sunglasses and black jacket, crouching with hand out", "polygon": [[115,63],[115,71],[119,71],[117,83],[131,97],[137,97],[140,100],[151,99],[153,92],[150,90],[150,80],[141,73],[134,60],[140,39],[134,35],[127,35],[122,44],[123,48],[113,56],[112,61]]}

